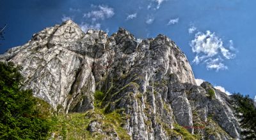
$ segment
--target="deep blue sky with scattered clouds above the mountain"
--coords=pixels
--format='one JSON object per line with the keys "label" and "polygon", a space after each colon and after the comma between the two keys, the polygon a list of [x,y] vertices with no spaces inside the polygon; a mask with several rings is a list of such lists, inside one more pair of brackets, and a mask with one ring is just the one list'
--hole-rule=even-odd
{"label": "deep blue sky with scattered clouds above the mountain", "polygon": [[0,26],[8,26],[0,53],[68,18],[84,31],[112,34],[124,27],[141,39],[165,34],[186,54],[195,78],[254,98],[255,5],[253,0],[1,0]]}

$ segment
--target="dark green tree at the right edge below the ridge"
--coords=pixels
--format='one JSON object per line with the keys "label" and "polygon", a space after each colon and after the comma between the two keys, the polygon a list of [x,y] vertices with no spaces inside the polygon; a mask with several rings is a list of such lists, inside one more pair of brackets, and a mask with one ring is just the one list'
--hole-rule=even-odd
{"label": "dark green tree at the right edge below the ridge", "polygon": [[237,111],[241,127],[241,134],[245,139],[256,139],[256,108],[253,99],[249,95],[243,96],[239,93],[232,95],[234,108]]}

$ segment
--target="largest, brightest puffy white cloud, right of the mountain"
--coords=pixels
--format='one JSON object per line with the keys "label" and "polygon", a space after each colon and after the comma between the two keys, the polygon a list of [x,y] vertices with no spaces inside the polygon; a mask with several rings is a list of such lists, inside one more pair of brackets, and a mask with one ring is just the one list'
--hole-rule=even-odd
{"label": "largest, brightest puffy white cloud, right of the mountain", "polygon": [[[197,32],[189,45],[192,47],[192,52],[196,53],[193,62],[196,64],[203,62],[207,69],[215,69],[216,71],[227,69],[228,67],[223,64],[223,60],[236,57],[234,53],[223,46],[221,38],[211,31]],[[232,48],[234,47],[232,46]]]}

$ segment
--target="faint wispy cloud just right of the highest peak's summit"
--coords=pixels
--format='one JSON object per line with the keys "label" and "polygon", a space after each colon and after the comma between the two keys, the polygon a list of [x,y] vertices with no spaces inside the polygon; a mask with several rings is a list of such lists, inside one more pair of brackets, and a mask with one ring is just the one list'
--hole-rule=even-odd
{"label": "faint wispy cloud just right of the highest peak's summit", "polygon": [[109,6],[99,5],[93,6],[93,8],[97,8],[98,10],[93,10],[88,13],[84,13],[83,17],[91,18],[93,22],[96,20],[104,20],[106,18],[111,18],[115,15],[113,8]]}

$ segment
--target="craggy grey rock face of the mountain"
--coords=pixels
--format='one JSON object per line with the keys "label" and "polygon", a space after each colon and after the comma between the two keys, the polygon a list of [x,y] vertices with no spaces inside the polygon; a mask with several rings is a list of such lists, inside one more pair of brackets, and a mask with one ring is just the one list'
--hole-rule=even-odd
{"label": "craggy grey rock face of the mountain", "polygon": [[[66,113],[93,109],[93,93],[102,91],[102,106],[124,109],[129,116],[124,129],[132,139],[182,139],[173,133],[175,123],[202,139],[239,137],[229,97],[209,83],[196,86],[184,53],[161,34],[138,43],[125,29],[111,36],[84,33],[68,20],[34,34],[0,59],[23,66],[24,88]],[[90,129],[96,127],[92,122]]]}

